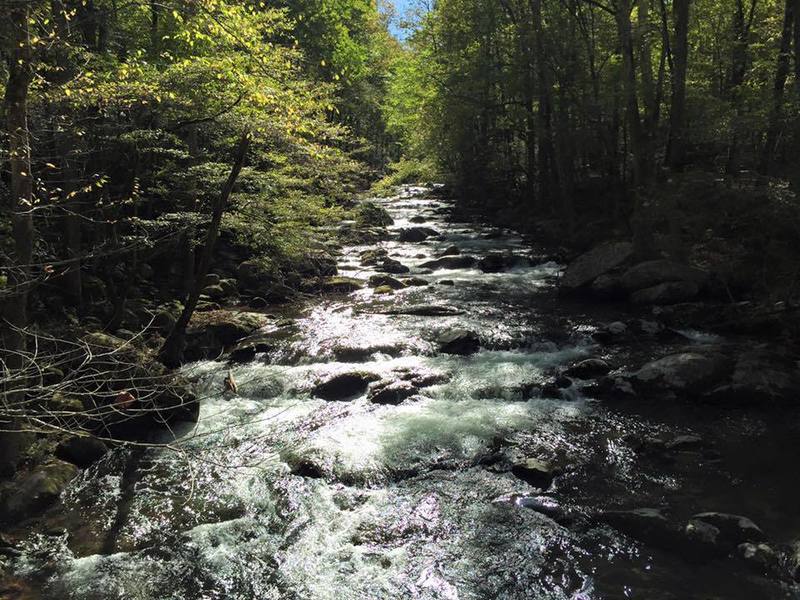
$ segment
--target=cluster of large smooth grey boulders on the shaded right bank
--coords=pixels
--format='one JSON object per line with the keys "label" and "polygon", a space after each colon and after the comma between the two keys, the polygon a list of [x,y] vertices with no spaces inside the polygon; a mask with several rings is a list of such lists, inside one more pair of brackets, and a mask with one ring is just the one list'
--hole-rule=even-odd
{"label": "cluster of large smooth grey boulders on the shaded right bank", "polygon": [[564,293],[588,293],[602,299],[624,299],[640,305],[688,302],[709,289],[711,275],[673,260],[632,264],[630,242],[610,242],[576,258],[560,281]]}

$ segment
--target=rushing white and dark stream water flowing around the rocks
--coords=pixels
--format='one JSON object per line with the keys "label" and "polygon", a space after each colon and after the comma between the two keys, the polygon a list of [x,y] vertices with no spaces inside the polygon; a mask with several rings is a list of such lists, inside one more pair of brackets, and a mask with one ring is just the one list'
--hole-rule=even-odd
{"label": "rushing white and dark stream water flowing around the rocks", "polygon": [[[411,275],[450,246],[533,258],[513,232],[452,222],[424,190],[381,202],[392,231],[422,217],[443,234],[380,244]],[[345,248],[341,273],[374,274],[358,259],[370,248]],[[426,272],[425,287],[365,288],[276,317],[264,332],[273,349],[253,362],[187,367],[205,398],[187,441],[120,449],[84,472],[50,531],[30,536],[17,574],[44,597],[87,600],[797,597],[734,560],[695,564],[591,518],[609,508],[662,507],[684,522],[728,511],[788,543],[800,537],[789,470],[797,427],[688,405],[606,406],[576,389],[558,400],[531,393],[606,352],[589,334],[611,316],[560,303],[559,272],[535,258],[501,273]],[[452,310],[397,314],[431,304]],[[436,339],[453,327],[477,332],[481,351],[440,354]],[[721,343],[684,335],[684,345]],[[239,391],[223,397],[229,368]],[[398,406],[310,393],[354,371],[433,385]],[[668,460],[632,441],[689,433],[702,449]],[[502,468],[526,457],[559,462],[563,475],[542,492]],[[569,518],[533,509],[542,506]]]}

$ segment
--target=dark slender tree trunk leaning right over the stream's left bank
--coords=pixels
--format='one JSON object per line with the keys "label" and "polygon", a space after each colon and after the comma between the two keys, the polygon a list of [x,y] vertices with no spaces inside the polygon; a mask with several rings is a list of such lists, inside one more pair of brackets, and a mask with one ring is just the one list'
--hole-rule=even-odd
{"label": "dark slender tree trunk leaning right over the stream's left bank", "polygon": [[203,247],[203,252],[200,255],[200,264],[197,267],[194,277],[194,287],[189,297],[186,300],[181,316],[172,328],[169,336],[167,337],[164,345],[161,347],[161,360],[170,367],[177,367],[183,361],[183,352],[186,338],[186,327],[192,319],[197,302],[200,299],[200,293],[205,285],[205,278],[208,275],[208,269],[211,266],[211,257],[214,253],[214,245],[219,236],[219,227],[222,223],[222,215],[228,205],[233,186],[236,185],[236,180],[239,178],[239,173],[244,166],[245,158],[247,157],[247,150],[250,147],[250,134],[244,133],[239,139],[236,147],[236,154],[231,167],[231,172],[228,175],[225,185],[222,187],[222,192],[217,197],[213,206],[211,207],[211,223],[208,226],[208,233],[206,234],[206,243]]}

